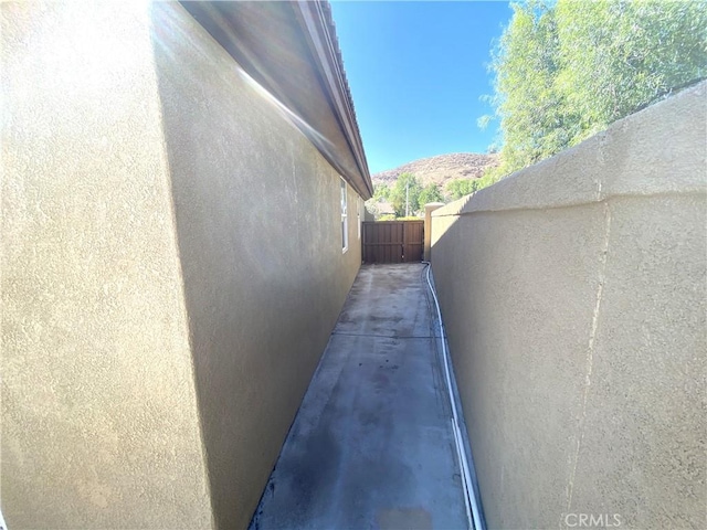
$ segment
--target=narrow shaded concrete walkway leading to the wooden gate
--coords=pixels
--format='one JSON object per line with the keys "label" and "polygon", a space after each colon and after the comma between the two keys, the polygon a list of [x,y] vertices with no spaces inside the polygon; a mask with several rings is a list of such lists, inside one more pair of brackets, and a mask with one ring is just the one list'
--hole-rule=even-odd
{"label": "narrow shaded concrete walkway leading to the wooden gate", "polygon": [[361,268],[253,530],[467,528],[423,273]]}

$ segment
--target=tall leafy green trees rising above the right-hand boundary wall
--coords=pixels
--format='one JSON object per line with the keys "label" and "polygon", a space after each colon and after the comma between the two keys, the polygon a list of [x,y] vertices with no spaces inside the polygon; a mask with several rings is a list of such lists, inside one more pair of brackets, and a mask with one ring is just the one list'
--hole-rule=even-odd
{"label": "tall leafy green trees rising above the right-hand boundary wall", "polygon": [[534,0],[513,9],[492,61],[500,165],[479,187],[707,74],[704,1]]}

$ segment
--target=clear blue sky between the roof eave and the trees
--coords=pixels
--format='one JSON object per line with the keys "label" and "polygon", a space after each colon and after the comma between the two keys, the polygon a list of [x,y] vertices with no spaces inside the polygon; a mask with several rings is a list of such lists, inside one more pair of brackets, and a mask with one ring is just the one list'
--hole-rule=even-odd
{"label": "clear blue sky between the roof eave and the trees", "polygon": [[485,152],[496,126],[487,71],[507,2],[333,1],[371,173],[447,152]]}

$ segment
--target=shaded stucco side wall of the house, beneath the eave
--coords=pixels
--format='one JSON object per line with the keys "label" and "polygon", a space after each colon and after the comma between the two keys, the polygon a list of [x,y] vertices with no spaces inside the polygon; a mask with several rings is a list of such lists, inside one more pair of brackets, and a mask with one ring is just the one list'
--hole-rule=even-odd
{"label": "shaded stucco side wall of the house, beneath the eave", "polygon": [[341,255],[340,180],[312,144],[180,6],[152,18],[212,509],[245,527],[360,250]]}

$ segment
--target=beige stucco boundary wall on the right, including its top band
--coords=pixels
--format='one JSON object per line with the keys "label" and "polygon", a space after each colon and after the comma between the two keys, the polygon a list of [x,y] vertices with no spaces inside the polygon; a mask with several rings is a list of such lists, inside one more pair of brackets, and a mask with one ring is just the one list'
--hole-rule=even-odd
{"label": "beige stucco boundary wall on the right, including its top band", "polygon": [[433,213],[489,528],[707,522],[706,88]]}

